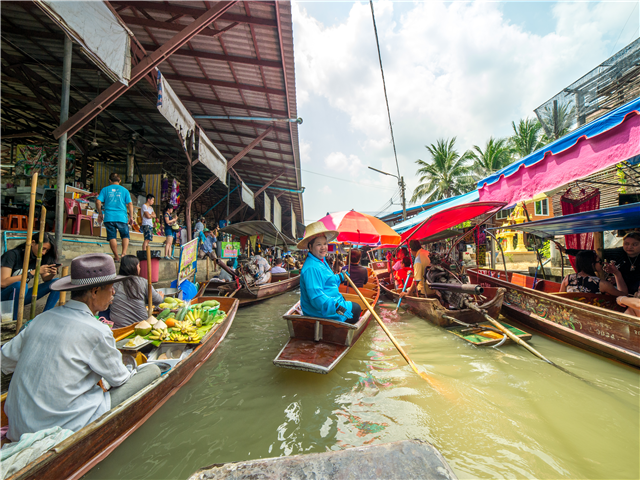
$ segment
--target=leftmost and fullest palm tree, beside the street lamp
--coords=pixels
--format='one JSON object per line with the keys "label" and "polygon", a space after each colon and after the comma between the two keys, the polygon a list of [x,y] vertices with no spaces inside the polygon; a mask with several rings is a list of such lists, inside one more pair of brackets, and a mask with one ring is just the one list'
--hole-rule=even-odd
{"label": "leftmost and fullest palm tree, beside the street lamp", "polygon": [[425,145],[431,154],[431,162],[416,160],[420,166],[416,172],[420,176],[420,184],[413,191],[411,203],[420,200],[433,202],[473,190],[475,184],[468,165],[468,153],[460,156],[455,144],[456,137]]}

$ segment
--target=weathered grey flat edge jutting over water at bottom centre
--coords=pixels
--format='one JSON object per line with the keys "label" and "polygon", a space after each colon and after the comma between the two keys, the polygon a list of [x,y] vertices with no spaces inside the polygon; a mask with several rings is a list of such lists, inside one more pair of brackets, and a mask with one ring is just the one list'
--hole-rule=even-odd
{"label": "weathered grey flat edge jutting over water at bottom centre", "polygon": [[198,470],[189,480],[256,478],[454,480],[458,477],[430,443],[401,440],[323,453],[214,464]]}

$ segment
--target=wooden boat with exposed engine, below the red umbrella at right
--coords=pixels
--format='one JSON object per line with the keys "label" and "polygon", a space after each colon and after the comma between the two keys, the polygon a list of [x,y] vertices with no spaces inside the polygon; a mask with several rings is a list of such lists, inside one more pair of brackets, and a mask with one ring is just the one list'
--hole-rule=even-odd
{"label": "wooden boat with exposed engine, below the red umbrella at right", "polygon": [[[394,302],[400,299],[400,296],[395,290],[389,288],[383,282],[380,283],[380,289],[384,292],[385,296]],[[502,300],[504,298],[504,288],[485,288],[484,296],[487,300],[478,305],[489,316],[497,318],[502,308]],[[457,325],[452,320],[445,317],[452,317],[456,320],[460,320],[464,323],[476,324],[484,322],[485,318],[474,310],[465,308],[462,310],[451,310],[445,308],[439,299],[437,298],[422,298],[422,297],[409,297],[406,296],[402,300],[402,303],[408,307],[408,309],[414,315],[427,320],[439,327],[450,327]]]}

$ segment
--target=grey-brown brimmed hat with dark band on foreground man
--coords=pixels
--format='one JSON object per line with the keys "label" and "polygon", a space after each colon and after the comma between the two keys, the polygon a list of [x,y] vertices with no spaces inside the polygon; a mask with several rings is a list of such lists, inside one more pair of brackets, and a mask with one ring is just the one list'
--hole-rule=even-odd
{"label": "grey-brown brimmed hat with dark band on foreground man", "polygon": [[106,253],[87,253],[71,261],[71,275],[51,284],[51,290],[68,292],[121,282],[126,275],[116,275],[116,264]]}

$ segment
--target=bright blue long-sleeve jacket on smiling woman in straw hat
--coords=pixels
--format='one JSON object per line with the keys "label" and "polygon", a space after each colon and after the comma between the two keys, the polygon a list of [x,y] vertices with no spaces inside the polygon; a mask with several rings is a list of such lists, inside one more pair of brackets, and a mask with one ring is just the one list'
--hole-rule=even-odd
{"label": "bright blue long-sleeve jacket on smiling woman in straw hat", "polygon": [[[334,274],[329,265],[312,254],[300,272],[300,306],[305,315],[344,322],[353,317],[351,302],[345,301],[340,294],[343,274]],[[336,312],[338,307],[346,311],[343,315]]]}

